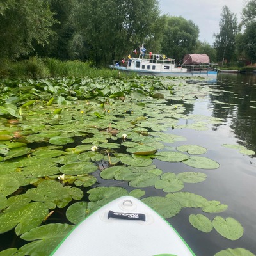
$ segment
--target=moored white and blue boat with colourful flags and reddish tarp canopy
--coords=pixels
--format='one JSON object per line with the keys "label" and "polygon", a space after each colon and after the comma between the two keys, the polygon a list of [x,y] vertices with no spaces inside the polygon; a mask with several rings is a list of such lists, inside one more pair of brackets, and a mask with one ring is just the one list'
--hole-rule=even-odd
{"label": "moored white and blue boat with colourful flags and reddish tarp canopy", "polygon": [[[189,61],[186,56],[193,59]],[[132,57],[130,54],[128,60],[114,60],[113,65],[109,65],[109,67],[120,71],[136,72],[141,75],[217,77],[218,63],[210,63],[206,54],[186,54],[186,56],[182,64],[176,64],[175,59],[168,58],[164,54],[142,52],[138,58]],[[195,56],[197,61],[195,61]],[[207,61],[205,61],[205,56],[207,56]]]}

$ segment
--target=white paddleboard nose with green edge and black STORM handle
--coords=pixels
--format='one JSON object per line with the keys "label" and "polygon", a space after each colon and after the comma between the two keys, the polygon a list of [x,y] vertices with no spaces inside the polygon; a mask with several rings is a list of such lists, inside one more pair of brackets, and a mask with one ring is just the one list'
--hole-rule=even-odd
{"label": "white paddleboard nose with green edge and black STORM handle", "polygon": [[156,211],[122,196],[93,212],[51,256],[195,256],[178,232]]}

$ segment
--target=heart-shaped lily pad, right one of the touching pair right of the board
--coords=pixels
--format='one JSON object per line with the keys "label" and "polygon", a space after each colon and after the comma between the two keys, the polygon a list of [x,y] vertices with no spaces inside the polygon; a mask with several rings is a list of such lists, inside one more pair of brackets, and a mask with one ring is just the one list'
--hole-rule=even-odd
{"label": "heart-shaped lily pad, right one of the touching pair right of the board", "polygon": [[228,217],[226,220],[220,216],[217,216],[212,221],[215,230],[230,240],[237,240],[243,236],[244,228],[234,218]]}

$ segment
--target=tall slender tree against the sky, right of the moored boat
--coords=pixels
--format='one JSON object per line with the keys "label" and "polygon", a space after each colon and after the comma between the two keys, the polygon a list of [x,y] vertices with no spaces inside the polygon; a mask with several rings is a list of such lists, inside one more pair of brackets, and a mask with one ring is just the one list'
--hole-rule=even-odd
{"label": "tall slender tree against the sky, right of the moored boat", "polygon": [[214,34],[214,47],[217,51],[217,60],[232,61],[236,59],[235,49],[235,38],[239,32],[237,26],[237,15],[230,12],[227,6],[224,6],[221,13],[221,19],[219,22],[220,33]]}

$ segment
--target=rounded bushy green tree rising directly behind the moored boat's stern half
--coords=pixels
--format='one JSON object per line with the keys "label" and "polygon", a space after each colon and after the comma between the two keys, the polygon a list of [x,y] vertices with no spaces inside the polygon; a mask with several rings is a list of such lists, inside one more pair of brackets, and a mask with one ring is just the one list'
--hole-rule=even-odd
{"label": "rounded bushy green tree rising directly behind the moored boat's stern half", "polygon": [[186,54],[195,50],[199,28],[191,20],[166,16],[166,24],[163,28],[161,52],[166,56],[182,60]]}

